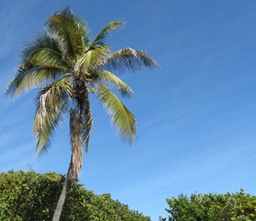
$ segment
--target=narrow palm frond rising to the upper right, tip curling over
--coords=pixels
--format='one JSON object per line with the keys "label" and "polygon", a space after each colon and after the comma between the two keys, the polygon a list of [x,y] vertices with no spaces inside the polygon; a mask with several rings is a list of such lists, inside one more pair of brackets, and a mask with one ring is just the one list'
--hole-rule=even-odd
{"label": "narrow palm frond rising to the upper right, tip curling over", "polygon": [[93,50],[96,48],[108,49],[109,47],[105,44],[105,40],[108,37],[110,31],[113,29],[121,28],[123,23],[123,21],[113,21],[106,25],[105,28],[99,32],[99,35],[95,38],[95,40],[92,41],[92,43],[89,45],[89,50]]}

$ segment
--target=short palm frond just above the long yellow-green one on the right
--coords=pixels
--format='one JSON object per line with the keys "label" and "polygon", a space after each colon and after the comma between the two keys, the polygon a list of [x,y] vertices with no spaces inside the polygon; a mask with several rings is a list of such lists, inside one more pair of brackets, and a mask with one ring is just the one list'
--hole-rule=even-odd
{"label": "short palm frond just above the long yellow-green one on the right", "polygon": [[99,80],[106,82],[111,86],[114,86],[119,89],[122,96],[130,96],[132,94],[132,89],[126,85],[118,76],[115,76],[109,71],[100,70],[97,72]]}

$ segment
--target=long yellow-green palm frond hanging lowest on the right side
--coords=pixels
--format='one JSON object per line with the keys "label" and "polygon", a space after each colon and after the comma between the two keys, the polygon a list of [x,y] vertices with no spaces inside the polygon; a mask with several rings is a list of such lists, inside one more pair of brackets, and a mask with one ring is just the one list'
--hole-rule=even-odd
{"label": "long yellow-green palm frond hanging lowest on the right side", "polygon": [[97,84],[96,94],[104,109],[111,115],[111,122],[116,126],[121,139],[130,143],[136,138],[136,120],[131,113],[110,89],[100,83]]}

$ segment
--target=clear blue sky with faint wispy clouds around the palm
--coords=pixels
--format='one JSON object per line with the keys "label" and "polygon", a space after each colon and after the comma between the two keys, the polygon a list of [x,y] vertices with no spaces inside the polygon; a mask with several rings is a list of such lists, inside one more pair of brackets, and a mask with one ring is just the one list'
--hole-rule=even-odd
{"label": "clear blue sky with faint wispy clouds around the palm", "polygon": [[16,74],[22,43],[53,12],[70,5],[91,36],[125,20],[109,39],[149,52],[161,69],[120,77],[134,90],[123,102],[138,125],[135,145],[122,144],[109,116],[91,98],[94,126],[80,182],[110,192],[130,208],[167,215],[166,198],[192,192],[256,194],[256,2],[210,0],[2,0],[0,8],[0,172],[65,173],[68,124],[55,133],[48,155],[35,158],[32,134],[37,89],[19,99],[4,94]]}

